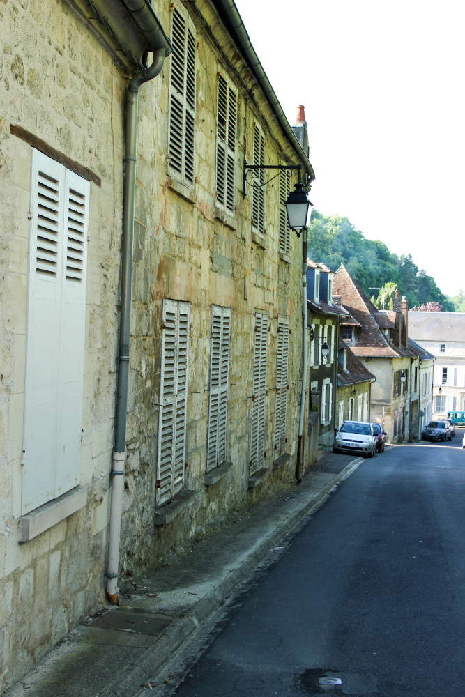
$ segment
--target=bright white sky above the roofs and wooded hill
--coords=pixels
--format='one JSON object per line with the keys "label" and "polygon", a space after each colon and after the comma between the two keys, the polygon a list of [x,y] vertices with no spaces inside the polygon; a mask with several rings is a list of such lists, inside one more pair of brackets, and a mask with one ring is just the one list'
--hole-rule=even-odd
{"label": "bright white sky above the roofs and wooded hill", "polygon": [[314,207],[465,290],[465,0],[236,6],[289,123],[305,105]]}

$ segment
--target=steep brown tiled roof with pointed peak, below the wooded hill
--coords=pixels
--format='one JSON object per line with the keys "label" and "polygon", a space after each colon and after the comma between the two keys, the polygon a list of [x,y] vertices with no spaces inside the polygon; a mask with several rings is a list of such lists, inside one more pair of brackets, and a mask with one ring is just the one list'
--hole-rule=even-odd
{"label": "steep brown tiled roof with pointed peak, below the wooded hill", "polygon": [[[350,314],[360,323],[360,330],[356,332],[356,345],[351,347],[351,351],[360,357],[372,358],[399,358],[400,356],[417,355],[408,346],[399,346],[398,343],[390,342],[381,332],[377,321],[381,315],[383,328],[390,326],[392,317],[395,313],[381,313],[374,307],[373,303],[365,295],[360,286],[353,280],[344,264],[337,269],[333,287],[339,289],[342,296],[342,304],[349,310]],[[389,323],[389,324],[387,324]],[[397,328],[398,330],[398,328]]]}

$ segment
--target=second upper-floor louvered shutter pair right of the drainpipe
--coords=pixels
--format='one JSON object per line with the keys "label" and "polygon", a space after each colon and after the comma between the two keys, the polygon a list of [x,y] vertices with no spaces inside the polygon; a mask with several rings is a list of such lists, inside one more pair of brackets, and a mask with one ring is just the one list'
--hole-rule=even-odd
{"label": "second upper-floor louvered shutter pair right of the drainpipe", "polygon": [[224,77],[218,79],[218,125],[216,155],[216,201],[234,214],[234,168],[236,164],[237,95]]}

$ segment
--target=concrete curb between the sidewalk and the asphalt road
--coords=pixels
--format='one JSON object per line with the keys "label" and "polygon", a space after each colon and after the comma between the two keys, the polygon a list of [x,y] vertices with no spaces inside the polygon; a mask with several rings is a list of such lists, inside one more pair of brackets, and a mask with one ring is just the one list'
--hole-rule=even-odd
{"label": "concrete curb between the sidewalk and the asphalt road", "polygon": [[224,600],[238,588],[245,579],[257,568],[257,566],[268,556],[270,551],[277,546],[281,540],[294,529],[303,517],[318,505],[321,500],[337,486],[342,480],[349,477],[359,464],[363,461],[363,457],[358,457],[356,460],[341,470],[341,472],[322,487],[317,493],[314,493],[305,503],[294,511],[282,525],[277,526],[274,532],[268,535],[257,546],[252,553],[242,562],[242,564],[231,571],[218,585],[208,592],[208,594],[200,599],[192,610],[176,621],[165,631],[158,641],[150,648],[146,649],[144,654],[139,658],[137,664],[132,668],[129,666],[125,669],[124,674],[113,684],[101,693],[101,697],[120,696],[120,697],[138,697],[141,693],[141,684],[147,679],[147,675],[154,677],[171,661],[174,654],[182,648],[182,646],[192,637],[211,615],[218,610],[224,603]]}

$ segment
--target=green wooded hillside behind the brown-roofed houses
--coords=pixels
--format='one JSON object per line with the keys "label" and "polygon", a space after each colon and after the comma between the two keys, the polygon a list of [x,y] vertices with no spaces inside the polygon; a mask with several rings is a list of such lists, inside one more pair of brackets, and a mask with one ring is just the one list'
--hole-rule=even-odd
{"label": "green wooded hillside behind the brown-roofed houses", "polygon": [[[436,282],[425,270],[418,269],[410,254],[397,256],[379,240],[367,240],[347,218],[339,215],[312,213],[308,234],[308,256],[322,261],[333,271],[341,263],[369,298],[382,305],[384,289],[386,309],[392,307],[392,294],[406,296],[409,307],[439,302],[444,312],[455,312],[455,305],[441,293]],[[390,302],[389,302],[390,301]]]}

